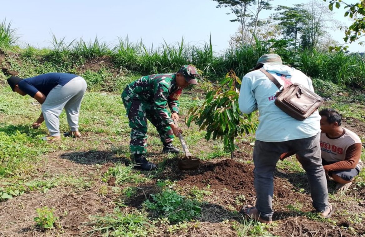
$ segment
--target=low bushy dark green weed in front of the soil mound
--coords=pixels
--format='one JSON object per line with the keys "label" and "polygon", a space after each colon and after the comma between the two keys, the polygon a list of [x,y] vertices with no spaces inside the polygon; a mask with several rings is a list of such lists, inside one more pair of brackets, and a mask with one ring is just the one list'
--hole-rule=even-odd
{"label": "low bushy dark green weed in front of the soil mound", "polygon": [[167,217],[170,222],[191,221],[200,215],[201,208],[196,200],[190,200],[171,189],[158,194],[150,194],[152,201],[146,200],[143,206],[160,217]]}

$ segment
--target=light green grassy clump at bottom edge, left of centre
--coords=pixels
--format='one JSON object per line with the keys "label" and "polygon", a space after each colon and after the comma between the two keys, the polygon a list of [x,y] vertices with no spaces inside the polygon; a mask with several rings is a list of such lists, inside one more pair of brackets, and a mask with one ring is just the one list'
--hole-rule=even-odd
{"label": "light green grassy clump at bottom edge, left of centre", "polygon": [[145,237],[153,232],[153,226],[147,213],[139,210],[120,210],[116,207],[111,214],[105,216],[91,216],[93,230],[86,232],[92,236],[100,232],[103,236],[114,237]]}

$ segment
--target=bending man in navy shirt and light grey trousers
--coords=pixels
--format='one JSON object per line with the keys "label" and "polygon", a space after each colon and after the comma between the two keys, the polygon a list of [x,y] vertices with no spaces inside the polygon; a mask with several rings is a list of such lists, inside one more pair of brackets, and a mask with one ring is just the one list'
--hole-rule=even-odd
{"label": "bending man in navy shirt and light grey trousers", "polygon": [[81,136],[78,132],[78,115],[87,88],[84,78],[69,73],[46,73],[26,79],[10,77],[7,81],[13,92],[22,96],[28,94],[42,105],[42,113],[32,127],[38,128],[45,121],[50,132],[46,140],[61,139],[59,115],[63,108],[70,126],[70,131],[64,136]]}

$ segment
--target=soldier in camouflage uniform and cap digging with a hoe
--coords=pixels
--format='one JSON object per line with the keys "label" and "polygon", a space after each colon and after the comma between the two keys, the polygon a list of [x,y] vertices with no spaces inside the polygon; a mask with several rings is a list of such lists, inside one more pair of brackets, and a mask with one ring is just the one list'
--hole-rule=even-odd
{"label": "soldier in camouflage uniform and cap digging with a hoe", "polygon": [[147,152],[147,119],[160,135],[164,145],[162,152],[180,152],[172,145],[172,141],[173,135],[177,136],[182,130],[174,125],[173,119],[179,119],[178,98],[182,90],[190,84],[197,84],[197,76],[193,66],[184,65],[177,73],[141,77],[124,89],[122,100],[132,129],[130,150],[137,167],[143,170],[156,168],[155,164],[144,157]]}

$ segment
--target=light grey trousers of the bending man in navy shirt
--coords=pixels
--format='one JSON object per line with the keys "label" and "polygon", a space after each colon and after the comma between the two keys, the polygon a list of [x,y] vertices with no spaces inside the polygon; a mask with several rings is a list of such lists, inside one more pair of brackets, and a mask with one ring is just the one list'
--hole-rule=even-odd
{"label": "light grey trousers of the bending man in navy shirt", "polygon": [[86,88],[85,79],[75,77],[66,85],[57,85],[49,92],[42,104],[42,113],[51,136],[60,136],[59,115],[63,108],[70,130],[78,131],[78,113]]}

